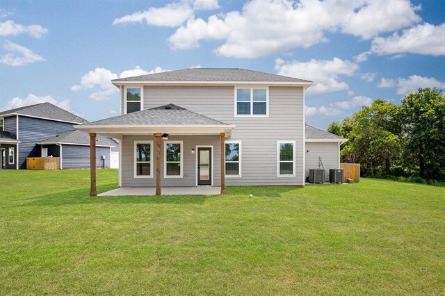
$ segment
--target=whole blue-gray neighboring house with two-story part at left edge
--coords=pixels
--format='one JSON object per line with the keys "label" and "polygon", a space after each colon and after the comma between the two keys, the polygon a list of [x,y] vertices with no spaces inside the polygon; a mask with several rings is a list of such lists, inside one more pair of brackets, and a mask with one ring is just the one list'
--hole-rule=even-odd
{"label": "whole blue-gray neighboring house with two-story part at left edge", "polygon": [[[60,169],[90,167],[90,141],[74,126],[87,121],[53,104],[42,103],[0,113],[0,168],[26,169],[27,157],[60,157]],[[97,138],[97,167],[110,167],[118,142]],[[101,160],[105,156],[104,160]],[[116,156],[118,159],[118,156]]]}

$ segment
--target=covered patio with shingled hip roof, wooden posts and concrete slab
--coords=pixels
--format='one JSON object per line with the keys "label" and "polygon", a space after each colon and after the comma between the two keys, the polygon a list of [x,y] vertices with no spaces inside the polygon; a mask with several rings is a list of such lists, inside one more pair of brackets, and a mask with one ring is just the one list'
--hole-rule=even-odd
{"label": "covered patio with shingled hip roof, wooden posts and concrete slab", "polygon": [[[119,139],[121,150],[120,188],[99,196],[224,194],[225,138],[232,133],[234,127],[173,104],[76,126],[77,129],[90,133],[90,196],[97,195],[94,164],[98,134]],[[136,142],[144,141],[149,143],[147,155],[153,155],[146,167],[148,176],[141,179],[139,170],[136,170],[138,158],[135,161],[133,147],[136,147]],[[165,145],[170,145],[167,144],[169,142],[180,144],[181,170],[175,176],[165,175]],[[207,169],[207,174],[200,174],[204,166],[200,163],[199,153],[206,149],[208,151],[204,152],[211,161],[211,167]],[[216,154],[215,160],[213,151]],[[214,183],[213,166],[216,169]],[[199,181],[202,180],[199,179],[200,176],[204,175],[208,178],[208,183]]]}

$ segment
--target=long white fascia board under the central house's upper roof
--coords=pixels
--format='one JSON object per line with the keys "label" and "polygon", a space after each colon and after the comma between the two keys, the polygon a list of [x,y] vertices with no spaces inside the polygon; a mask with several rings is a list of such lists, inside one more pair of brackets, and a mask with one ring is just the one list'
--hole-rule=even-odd
{"label": "long white fascia board under the central house's upper roof", "polygon": [[302,86],[309,88],[312,82],[305,81],[111,81],[113,85],[277,85],[277,86]]}

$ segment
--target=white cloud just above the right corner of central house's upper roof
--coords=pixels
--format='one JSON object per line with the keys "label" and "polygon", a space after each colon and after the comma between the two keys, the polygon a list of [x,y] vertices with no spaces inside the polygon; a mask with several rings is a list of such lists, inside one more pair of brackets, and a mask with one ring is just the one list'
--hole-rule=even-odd
{"label": "white cloud just above the right corner of central house's upper roof", "polygon": [[333,58],[332,60],[310,60],[309,62],[275,60],[278,74],[314,81],[308,88],[308,94],[324,94],[348,90],[349,86],[340,81],[339,76],[352,76],[359,66],[348,60]]}

